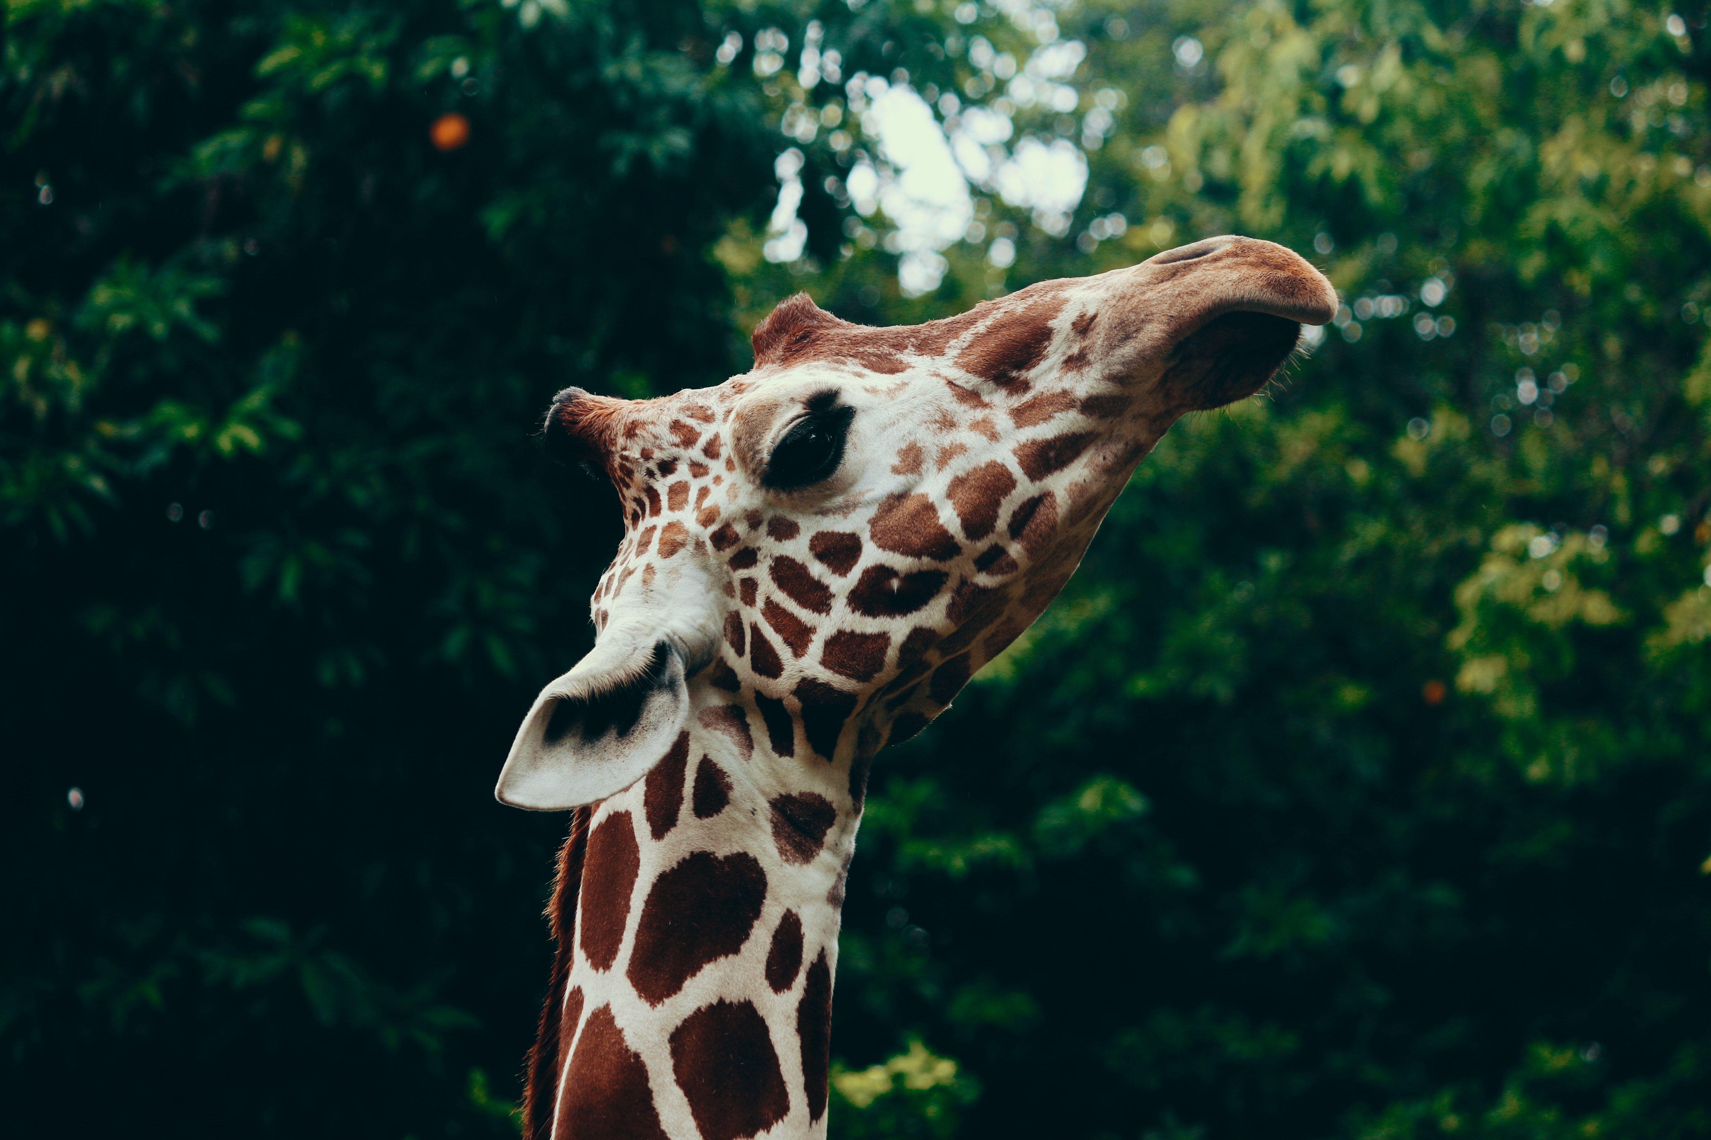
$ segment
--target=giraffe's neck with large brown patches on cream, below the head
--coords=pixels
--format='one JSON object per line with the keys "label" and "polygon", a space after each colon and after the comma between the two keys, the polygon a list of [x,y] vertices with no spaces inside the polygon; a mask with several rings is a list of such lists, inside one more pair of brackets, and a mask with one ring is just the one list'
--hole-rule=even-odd
{"label": "giraffe's neck with large brown patches on cream, below the head", "polygon": [[691,694],[690,730],[568,848],[556,1138],[825,1135],[850,764],[779,759],[756,709]]}

